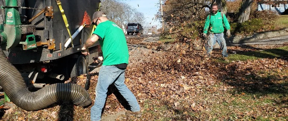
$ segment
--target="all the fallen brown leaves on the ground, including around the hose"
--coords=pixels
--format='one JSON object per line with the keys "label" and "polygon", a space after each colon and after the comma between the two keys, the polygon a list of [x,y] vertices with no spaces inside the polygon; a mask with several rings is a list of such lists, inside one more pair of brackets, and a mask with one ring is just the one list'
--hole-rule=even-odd
{"label": "all the fallen brown leaves on the ground, including around the hose", "polygon": [[[214,62],[203,51],[190,51],[186,44],[174,47],[151,44],[151,48],[137,47],[129,52],[125,83],[136,96],[141,118],[122,115],[116,120],[287,120],[288,119],[288,58]],[[235,47],[254,51],[246,47]],[[220,54],[216,52],[217,56]],[[95,100],[97,74],[90,74],[88,90],[92,105]],[[84,87],[82,75],[66,83]],[[115,87],[108,91],[105,110],[116,115],[129,110],[127,102]],[[8,103],[9,104],[9,103]],[[39,111],[24,111],[5,103],[5,121],[85,121],[90,108],[58,103]],[[2,110],[2,111],[4,111]]]}

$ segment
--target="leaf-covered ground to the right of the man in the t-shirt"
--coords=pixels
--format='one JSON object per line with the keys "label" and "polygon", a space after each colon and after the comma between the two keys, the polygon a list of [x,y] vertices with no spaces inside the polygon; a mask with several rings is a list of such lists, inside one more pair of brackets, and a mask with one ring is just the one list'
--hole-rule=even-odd
{"label": "leaf-covered ground to the right of the man in the t-shirt", "polygon": [[129,66],[126,84],[144,102],[143,119],[281,119],[288,115],[287,58],[223,64],[185,48],[140,51],[146,60]]}

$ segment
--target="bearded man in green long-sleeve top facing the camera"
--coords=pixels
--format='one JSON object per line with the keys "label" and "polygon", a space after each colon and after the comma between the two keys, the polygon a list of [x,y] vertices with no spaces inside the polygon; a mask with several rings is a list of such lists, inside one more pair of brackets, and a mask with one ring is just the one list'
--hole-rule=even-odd
{"label": "bearded man in green long-sleeve top facing the camera", "polygon": [[[228,57],[228,53],[223,32],[225,27],[227,30],[226,35],[229,37],[230,25],[225,14],[221,13],[218,8],[218,4],[215,3],[212,5],[212,12],[207,16],[205,21],[203,35],[204,38],[208,39],[207,43],[205,44],[208,57],[211,56],[213,46],[217,41],[222,49],[222,56],[226,58]],[[207,35],[208,31],[209,36]]]}

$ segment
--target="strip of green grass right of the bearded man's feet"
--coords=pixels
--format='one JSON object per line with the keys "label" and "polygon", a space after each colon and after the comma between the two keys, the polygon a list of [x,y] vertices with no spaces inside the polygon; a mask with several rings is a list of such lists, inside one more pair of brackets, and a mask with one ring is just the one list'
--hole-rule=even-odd
{"label": "strip of green grass right of the bearded man's feet", "polygon": [[[230,54],[228,57],[229,61],[246,61],[246,60],[256,60],[260,58],[275,58],[275,57],[283,57],[288,55],[288,46],[279,47],[275,49],[266,49],[259,51],[249,51],[243,52],[239,54]],[[219,60],[221,62],[221,60]]]}

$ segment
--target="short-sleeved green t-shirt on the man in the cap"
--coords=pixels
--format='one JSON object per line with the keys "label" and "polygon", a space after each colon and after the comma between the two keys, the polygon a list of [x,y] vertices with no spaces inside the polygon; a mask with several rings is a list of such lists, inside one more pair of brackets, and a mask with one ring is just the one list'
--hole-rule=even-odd
{"label": "short-sleeved green t-shirt on the man in the cap", "polygon": [[129,53],[126,38],[118,25],[112,21],[102,22],[97,25],[93,34],[100,37],[103,65],[128,64]]}

